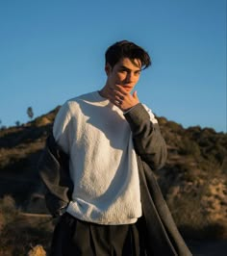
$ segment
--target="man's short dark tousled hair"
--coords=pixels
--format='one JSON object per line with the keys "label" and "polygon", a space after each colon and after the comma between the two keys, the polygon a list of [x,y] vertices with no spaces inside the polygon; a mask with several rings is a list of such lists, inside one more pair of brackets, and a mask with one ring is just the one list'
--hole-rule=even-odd
{"label": "man's short dark tousled hair", "polygon": [[149,54],[139,45],[132,41],[121,40],[111,45],[105,54],[106,64],[114,67],[122,58],[129,58],[130,60],[139,59],[142,69],[147,68],[151,64]]}

